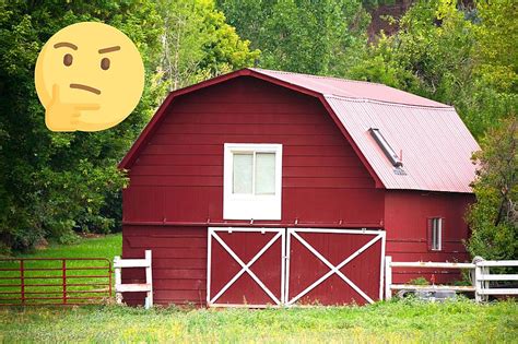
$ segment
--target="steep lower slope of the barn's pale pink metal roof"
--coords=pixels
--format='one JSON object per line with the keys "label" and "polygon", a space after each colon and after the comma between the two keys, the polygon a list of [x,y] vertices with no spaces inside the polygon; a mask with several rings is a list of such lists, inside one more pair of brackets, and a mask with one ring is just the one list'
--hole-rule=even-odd
{"label": "steep lower slope of the barn's pale pink metal roof", "polygon": [[[454,108],[326,99],[387,189],[472,192],[476,166],[471,155],[480,147]],[[405,175],[395,173],[370,128],[402,152]]]}

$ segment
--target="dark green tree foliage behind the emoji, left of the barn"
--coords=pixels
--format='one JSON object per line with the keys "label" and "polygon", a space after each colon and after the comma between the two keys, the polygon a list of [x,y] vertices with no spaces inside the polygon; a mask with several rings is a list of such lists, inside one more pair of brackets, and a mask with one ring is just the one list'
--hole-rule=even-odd
{"label": "dark green tree foliage behind the emoji, left of the barn", "polygon": [[[58,29],[80,21],[114,25],[137,44],[148,72],[142,100],[117,128],[52,133],[34,88],[39,49]],[[151,1],[0,0],[0,241],[4,251],[72,229],[107,232],[108,194],[126,183],[117,162],[148,122],[160,87],[153,84],[162,33]]]}

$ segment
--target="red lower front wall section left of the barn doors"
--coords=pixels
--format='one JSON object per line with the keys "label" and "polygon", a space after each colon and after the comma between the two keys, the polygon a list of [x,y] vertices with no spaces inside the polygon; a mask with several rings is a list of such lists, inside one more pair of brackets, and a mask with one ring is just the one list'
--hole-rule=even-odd
{"label": "red lower front wall section left of the barn doors", "polygon": [[[205,304],[207,227],[129,226],[122,229],[122,257],[143,258],[153,251],[154,303]],[[123,269],[122,283],[143,283],[144,269]],[[144,293],[126,293],[125,301],[143,305]]]}

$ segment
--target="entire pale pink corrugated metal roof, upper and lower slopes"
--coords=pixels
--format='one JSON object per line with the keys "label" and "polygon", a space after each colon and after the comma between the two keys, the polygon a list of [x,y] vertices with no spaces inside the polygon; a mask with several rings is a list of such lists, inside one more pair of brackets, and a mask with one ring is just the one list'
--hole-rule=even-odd
{"label": "entire pale pink corrugated metal roof, upper and lower slopes", "polygon": [[[322,94],[387,189],[472,192],[471,155],[480,146],[454,107],[380,84],[252,70]],[[370,128],[402,152],[404,175],[395,173]]]}

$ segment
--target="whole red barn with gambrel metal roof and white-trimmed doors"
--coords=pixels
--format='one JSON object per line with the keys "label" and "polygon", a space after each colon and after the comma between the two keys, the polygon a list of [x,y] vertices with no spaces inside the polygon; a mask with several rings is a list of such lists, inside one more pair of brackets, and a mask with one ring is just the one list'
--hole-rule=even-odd
{"label": "whole red barn with gambrel metal roof and white-trimmed doors", "polygon": [[381,84],[239,70],[169,94],[121,162],[122,256],[153,250],[157,304],[372,303],[386,254],[469,258],[476,150],[451,106]]}

